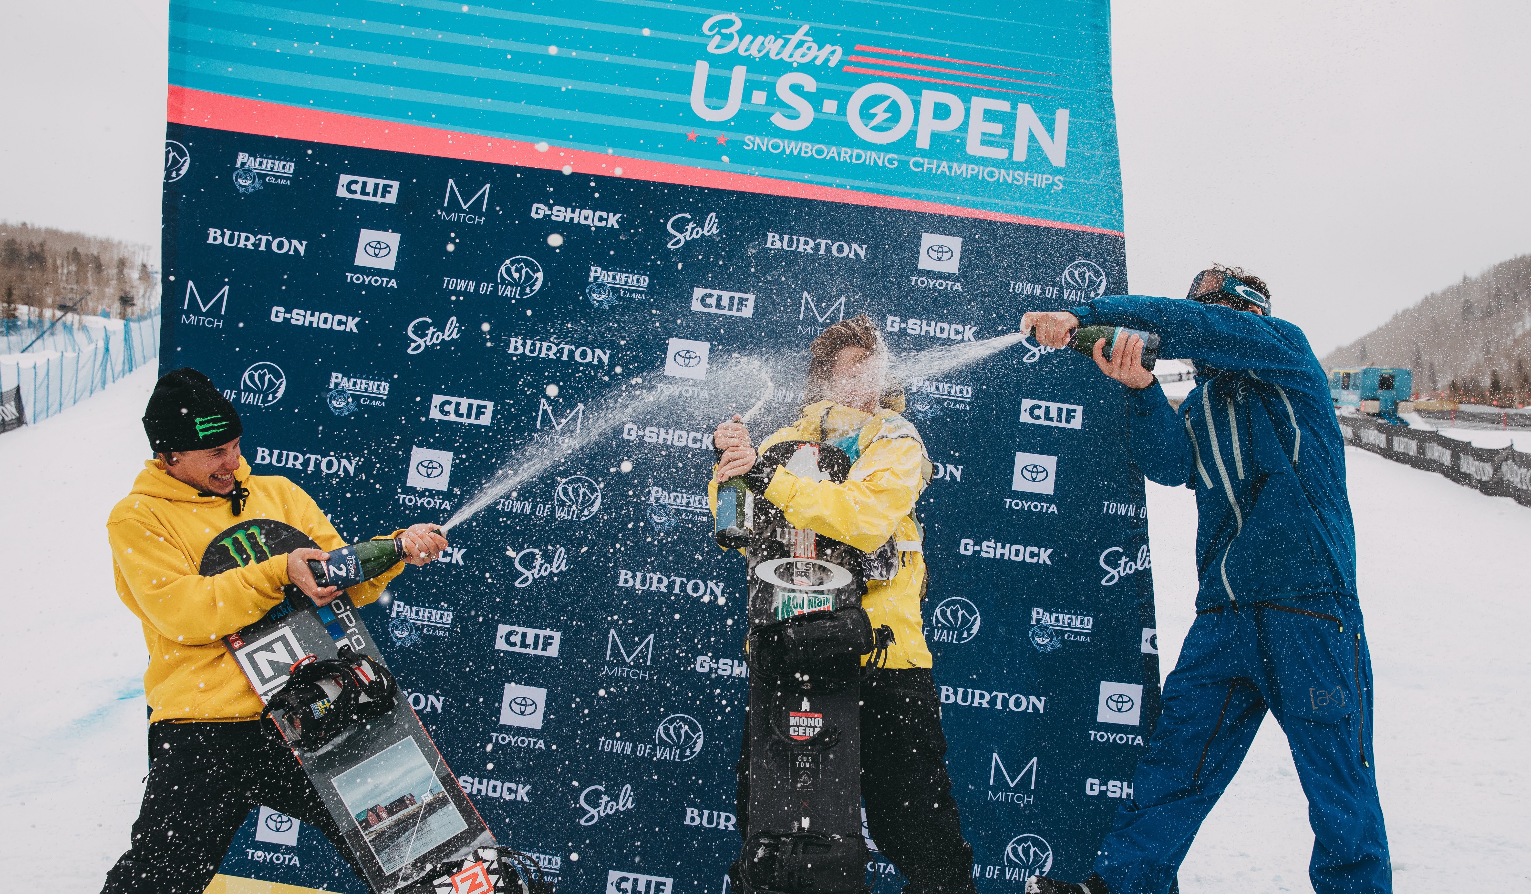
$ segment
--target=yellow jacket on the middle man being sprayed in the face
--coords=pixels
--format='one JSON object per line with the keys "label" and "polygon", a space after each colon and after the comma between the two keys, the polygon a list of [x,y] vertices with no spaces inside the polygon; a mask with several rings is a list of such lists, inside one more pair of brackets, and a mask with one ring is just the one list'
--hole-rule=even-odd
{"label": "yellow jacket on the middle man being sprayed in the face", "polygon": [[[862,608],[873,629],[893,628],[888,667],[929,667],[920,600],[925,597],[925,554],[914,504],[931,479],[931,461],[920,433],[894,409],[876,413],[819,401],[802,409],[802,418],[761,441],[764,452],[779,441],[819,441],[847,447],[854,436],[850,478],[845,484],[798,478],[778,465],[766,499],[781,508],[796,528],[850,543],[871,553],[894,537],[899,573],[893,580],[868,580]],[[707,484],[712,513],[718,513],[718,479]],[[865,658],[863,658],[865,661]]]}

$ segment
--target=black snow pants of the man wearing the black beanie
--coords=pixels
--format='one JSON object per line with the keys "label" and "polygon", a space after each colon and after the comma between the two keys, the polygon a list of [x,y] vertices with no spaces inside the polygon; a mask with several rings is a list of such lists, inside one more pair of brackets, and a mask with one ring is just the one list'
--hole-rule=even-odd
{"label": "black snow pants of the man wearing the black beanie", "polygon": [[260,721],[161,721],[149,726],[149,785],[133,847],[106,874],[101,892],[201,894],[256,807],[320,830],[361,877],[297,758],[266,739]]}

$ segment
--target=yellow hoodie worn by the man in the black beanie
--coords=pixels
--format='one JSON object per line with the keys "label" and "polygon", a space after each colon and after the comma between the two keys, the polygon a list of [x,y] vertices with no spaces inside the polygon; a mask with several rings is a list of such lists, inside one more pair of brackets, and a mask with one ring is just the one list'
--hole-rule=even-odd
{"label": "yellow hoodie worn by the man in the black beanie", "polygon": [[[323,550],[346,545],[314,499],[286,478],[250,475],[243,459],[236,478],[250,490],[239,516],[228,499],[197,496],[194,487],[170,478],[161,461],[150,459],[132,493],[107,517],[116,594],[144,623],[150,721],[260,716],[260,698],[222,638],[282,602],[282,586],[291,583],[286,553],[202,577],[197,565],[214,536],[240,522],[274,519],[303,531]],[[401,569],[403,563],[395,565],[348,594],[358,606],[374,602]]]}

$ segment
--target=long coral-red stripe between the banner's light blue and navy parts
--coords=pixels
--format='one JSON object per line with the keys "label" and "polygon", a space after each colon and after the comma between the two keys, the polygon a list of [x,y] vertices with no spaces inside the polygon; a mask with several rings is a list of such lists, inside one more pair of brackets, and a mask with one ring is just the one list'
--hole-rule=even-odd
{"label": "long coral-red stripe between the banner's light blue and navy parts", "polygon": [[[965,208],[961,205],[943,205],[940,202],[883,196],[879,193],[860,193],[837,187],[799,184],[756,175],[739,175],[733,171],[698,168],[683,164],[623,158],[617,155],[603,155],[599,152],[563,148],[557,145],[550,145],[545,152],[537,152],[536,145],[516,139],[455,133],[449,130],[438,130],[435,127],[423,127],[419,124],[378,121],[357,115],[303,109],[302,106],[265,103],[262,100],[242,100],[239,96],[208,93],[205,90],[193,90],[190,87],[170,87],[165,119],[171,124],[211,127],[214,130],[254,133],[259,136],[285,136],[309,142],[328,142],[331,145],[355,145],[363,148],[404,152],[410,155],[429,155],[435,158],[461,158],[490,164],[513,164],[544,170],[562,170],[563,167],[570,167],[571,173],[580,175],[623,176],[635,181],[651,181],[660,184],[707,187],[713,190],[733,190],[738,193],[787,196],[795,199],[819,199],[825,202],[842,202],[847,205],[897,208],[900,211],[949,214],[954,217],[978,217],[983,220],[1004,220],[1009,224],[1052,227],[1056,230],[1075,230],[1079,233],[1125,236],[1125,233],[1104,230],[1101,227],[1063,224],[1059,220],[1043,220],[1041,217],[1023,217],[1020,214],[1004,214],[1001,211],[984,211],[980,208]],[[617,167],[622,168],[622,175],[615,175]]]}

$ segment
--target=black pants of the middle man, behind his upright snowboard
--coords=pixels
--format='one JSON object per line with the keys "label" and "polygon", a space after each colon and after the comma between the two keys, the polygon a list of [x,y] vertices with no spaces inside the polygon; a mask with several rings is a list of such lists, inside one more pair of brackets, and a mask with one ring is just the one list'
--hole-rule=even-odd
{"label": "black pants of the middle man, behind his upright snowboard", "polygon": [[[862,684],[860,761],[867,831],[908,879],[905,894],[977,894],[972,847],[946,775],[940,698],[925,667],[879,670]],[[749,805],[749,732],[741,749],[739,834]]]}

